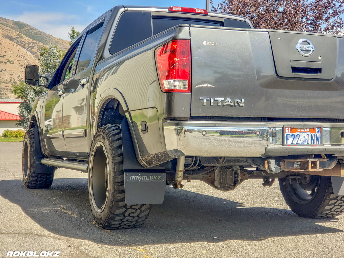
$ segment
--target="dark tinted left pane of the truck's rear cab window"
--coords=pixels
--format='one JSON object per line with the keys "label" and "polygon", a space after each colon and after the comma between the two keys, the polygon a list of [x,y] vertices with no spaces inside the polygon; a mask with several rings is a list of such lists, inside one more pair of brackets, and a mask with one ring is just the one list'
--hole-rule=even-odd
{"label": "dark tinted left pane of the truck's rear cab window", "polygon": [[110,45],[113,55],[152,36],[150,12],[123,12]]}

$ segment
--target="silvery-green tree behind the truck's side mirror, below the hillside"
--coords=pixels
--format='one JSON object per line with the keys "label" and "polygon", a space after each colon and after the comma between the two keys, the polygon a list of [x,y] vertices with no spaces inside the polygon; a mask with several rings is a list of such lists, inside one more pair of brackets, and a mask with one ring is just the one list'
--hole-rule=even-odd
{"label": "silvery-green tree behind the truck's side mirror, below the hillside", "polygon": [[[66,52],[57,50],[57,47],[53,44],[49,46],[42,46],[40,50],[40,57],[38,58],[41,66],[40,73],[47,74],[54,72],[59,63],[54,60],[62,60]],[[44,82],[44,79],[43,79]],[[21,99],[18,108],[18,114],[20,119],[17,122],[18,126],[25,129],[29,128],[29,119],[32,110],[32,105],[35,99],[45,93],[47,89],[45,87],[33,87],[25,85],[21,82],[19,85],[12,85],[12,93],[17,95]]]}

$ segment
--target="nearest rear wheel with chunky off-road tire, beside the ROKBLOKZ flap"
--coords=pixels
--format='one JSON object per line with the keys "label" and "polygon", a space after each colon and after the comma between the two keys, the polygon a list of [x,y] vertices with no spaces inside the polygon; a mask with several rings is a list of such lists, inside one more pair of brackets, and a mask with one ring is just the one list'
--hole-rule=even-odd
{"label": "nearest rear wheel with chunky off-road tire, beside the ROKBLOKZ flap", "polygon": [[[151,204],[127,205],[125,203],[122,163],[120,125],[102,126],[96,132],[90,150],[88,193],[95,222],[104,229],[141,226],[148,218],[152,207]],[[100,176],[97,176],[97,173]],[[103,180],[103,175],[105,180]],[[105,184],[105,189],[101,189],[103,186],[99,187],[103,184]]]}

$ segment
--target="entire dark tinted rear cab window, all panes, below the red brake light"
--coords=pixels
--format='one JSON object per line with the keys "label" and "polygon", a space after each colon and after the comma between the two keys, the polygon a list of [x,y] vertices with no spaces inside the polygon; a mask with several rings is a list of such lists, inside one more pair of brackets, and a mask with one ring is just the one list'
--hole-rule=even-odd
{"label": "entire dark tinted rear cab window, all panes, below the red brake light", "polygon": [[[185,16],[185,17],[183,17]],[[212,19],[213,18],[213,19]],[[204,15],[171,14],[161,12],[125,11],[121,14],[112,37],[109,52],[111,55],[121,52],[149,37],[180,24],[206,25],[250,29],[250,25],[241,20],[215,18]]]}

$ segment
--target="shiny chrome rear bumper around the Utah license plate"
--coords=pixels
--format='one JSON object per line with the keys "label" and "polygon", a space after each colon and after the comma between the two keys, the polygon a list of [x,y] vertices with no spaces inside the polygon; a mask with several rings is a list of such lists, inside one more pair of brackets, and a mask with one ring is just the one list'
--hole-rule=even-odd
{"label": "shiny chrome rear bumper around the Utah license plate", "polygon": [[[322,126],[320,146],[283,146],[283,126]],[[203,157],[278,157],[299,154],[344,156],[344,123],[311,122],[191,122],[163,125],[166,150],[171,154]]]}

